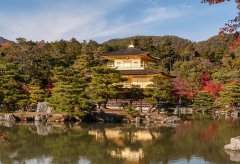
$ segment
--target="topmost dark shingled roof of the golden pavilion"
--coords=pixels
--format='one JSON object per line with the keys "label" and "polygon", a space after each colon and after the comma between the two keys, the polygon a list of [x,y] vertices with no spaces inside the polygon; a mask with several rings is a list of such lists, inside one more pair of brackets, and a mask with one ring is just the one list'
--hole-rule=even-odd
{"label": "topmost dark shingled roof of the golden pavilion", "polygon": [[128,47],[126,49],[123,50],[119,50],[119,51],[112,51],[112,52],[107,52],[104,53],[104,56],[123,56],[123,55],[141,55],[141,54],[146,54],[146,52],[144,51],[140,51],[134,47]]}

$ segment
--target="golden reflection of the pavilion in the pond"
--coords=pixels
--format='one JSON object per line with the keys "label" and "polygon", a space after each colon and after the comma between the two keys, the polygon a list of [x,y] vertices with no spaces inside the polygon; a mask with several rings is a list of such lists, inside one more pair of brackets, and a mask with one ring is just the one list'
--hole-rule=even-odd
{"label": "golden reflection of the pavilion in the pond", "polygon": [[[160,132],[151,132],[149,130],[138,130],[138,131],[123,131],[120,129],[108,129],[105,128],[103,131],[90,130],[89,135],[96,137],[99,142],[104,142],[104,140],[112,141],[118,146],[124,146],[123,149],[110,150],[109,154],[114,158],[120,158],[127,160],[129,162],[138,162],[144,158],[144,152],[142,148],[131,150],[131,148],[124,145],[124,140],[126,138],[131,138],[131,142],[147,142],[153,139],[158,139],[161,137]],[[131,137],[129,137],[131,136]]]}

